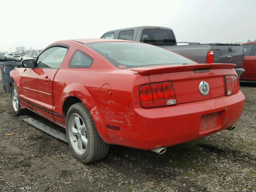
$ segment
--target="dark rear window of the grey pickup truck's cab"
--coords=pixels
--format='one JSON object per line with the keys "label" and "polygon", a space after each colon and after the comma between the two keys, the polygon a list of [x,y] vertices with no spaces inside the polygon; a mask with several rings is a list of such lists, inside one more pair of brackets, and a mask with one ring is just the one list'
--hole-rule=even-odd
{"label": "dark rear window of the grey pickup truck's cab", "polygon": [[141,41],[152,45],[176,45],[173,32],[164,29],[144,29]]}

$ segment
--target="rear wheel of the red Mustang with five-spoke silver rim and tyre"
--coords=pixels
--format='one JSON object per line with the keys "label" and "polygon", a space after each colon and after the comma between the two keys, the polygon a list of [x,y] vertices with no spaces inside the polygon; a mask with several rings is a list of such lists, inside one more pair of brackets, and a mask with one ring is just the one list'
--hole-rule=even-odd
{"label": "rear wheel of the red Mustang with five-spoke silver rim and tyre", "polygon": [[100,160],[108,153],[109,144],[98,134],[92,116],[83,103],[73,104],[66,116],[68,144],[83,163]]}

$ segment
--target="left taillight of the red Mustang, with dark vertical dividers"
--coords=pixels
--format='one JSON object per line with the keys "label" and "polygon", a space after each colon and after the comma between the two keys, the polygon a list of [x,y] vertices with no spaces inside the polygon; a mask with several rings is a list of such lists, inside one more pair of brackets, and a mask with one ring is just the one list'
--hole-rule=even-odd
{"label": "left taillight of the red Mustang, with dark vertical dividers", "polygon": [[176,104],[176,96],[171,81],[140,86],[140,105],[154,108]]}

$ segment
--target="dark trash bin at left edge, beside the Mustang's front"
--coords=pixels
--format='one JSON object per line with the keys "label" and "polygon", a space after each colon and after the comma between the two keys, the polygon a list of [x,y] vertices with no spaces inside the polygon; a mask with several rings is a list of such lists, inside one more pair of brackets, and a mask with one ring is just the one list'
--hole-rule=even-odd
{"label": "dark trash bin at left edge, beside the Mustang's front", "polygon": [[11,89],[9,87],[9,83],[12,83],[13,80],[10,77],[10,72],[14,70],[14,68],[19,68],[20,62],[10,61],[10,62],[0,62],[2,80],[4,84],[4,91],[10,93]]}

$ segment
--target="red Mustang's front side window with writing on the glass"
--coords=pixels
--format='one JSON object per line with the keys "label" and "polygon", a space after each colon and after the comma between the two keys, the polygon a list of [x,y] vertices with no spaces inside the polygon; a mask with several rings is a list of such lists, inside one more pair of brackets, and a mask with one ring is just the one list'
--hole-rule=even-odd
{"label": "red Mustang's front side window with writing on the glass", "polygon": [[36,60],[36,68],[60,68],[62,61],[68,52],[66,47],[51,47],[45,50]]}

